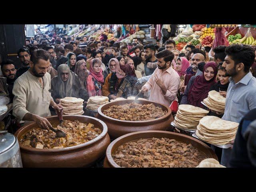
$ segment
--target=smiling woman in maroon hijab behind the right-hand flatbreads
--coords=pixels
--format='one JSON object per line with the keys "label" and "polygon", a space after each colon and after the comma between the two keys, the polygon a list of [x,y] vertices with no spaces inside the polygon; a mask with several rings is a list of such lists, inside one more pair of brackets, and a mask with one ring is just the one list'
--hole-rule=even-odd
{"label": "smiling woman in maroon hijab behind the right-hand flatbreads", "polygon": [[216,63],[206,63],[202,75],[192,76],[190,78],[180,104],[189,104],[196,107],[206,108],[201,104],[201,101],[208,97],[210,87],[216,83],[216,75]]}

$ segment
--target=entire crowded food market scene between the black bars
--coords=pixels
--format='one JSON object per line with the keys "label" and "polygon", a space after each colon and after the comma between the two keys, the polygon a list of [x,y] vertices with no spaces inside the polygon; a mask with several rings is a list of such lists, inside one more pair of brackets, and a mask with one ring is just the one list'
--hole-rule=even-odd
{"label": "entire crowded food market scene between the black bars", "polygon": [[256,25],[0,25],[0,168],[256,167]]}

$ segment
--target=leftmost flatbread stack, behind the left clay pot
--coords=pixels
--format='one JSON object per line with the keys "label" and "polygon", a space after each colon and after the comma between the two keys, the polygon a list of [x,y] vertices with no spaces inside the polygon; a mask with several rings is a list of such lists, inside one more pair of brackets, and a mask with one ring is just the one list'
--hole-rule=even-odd
{"label": "leftmost flatbread stack, behind the left clay pot", "polygon": [[84,100],[75,97],[65,97],[60,99],[60,104],[63,106],[63,114],[65,115],[82,115]]}

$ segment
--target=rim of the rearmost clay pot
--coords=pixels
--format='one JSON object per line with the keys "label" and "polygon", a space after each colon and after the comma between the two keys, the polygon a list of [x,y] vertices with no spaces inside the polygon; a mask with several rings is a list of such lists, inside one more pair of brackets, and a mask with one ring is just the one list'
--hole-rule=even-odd
{"label": "rim of the rearmost clay pot", "polygon": [[[128,100],[128,101],[134,101],[133,99],[127,99],[127,100]],[[153,102],[153,101],[148,101],[148,102],[153,103],[153,104],[155,104],[155,103],[156,103],[156,104],[160,104],[160,105],[166,107],[166,108],[167,108],[167,114],[165,114],[164,116],[162,116],[162,117],[160,117],[160,118],[151,119],[151,120],[145,120],[145,121],[126,121],[126,120],[114,119],[114,118],[112,118],[112,117],[109,117],[109,116],[104,115],[104,114],[101,112],[101,109],[102,109],[103,106],[108,105],[108,104],[110,104],[110,103],[120,102],[120,101],[123,101],[123,100],[114,101],[114,102],[109,102],[109,103],[106,103],[106,104],[100,106],[100,107],[98,108],[98,114],[99,114],[100,116],[102,116],[102,117],[108,119],[108,120],[112,120],[112,121],[116,121],[116,122],[122,122],[122,123],[129,123],[129,124],[130,124],[130,123],[133,123],[133,124],[152,123],[152,122],[155,122],[156,120],[157,120],[157,121],[161,121],[161,120],[164,120],[165,118],[168,118],[168,117],[172,114],[172,110],[171,110],[169,107],[167,107],[167,106],[164,105],[164,104],[161,104],[161,103],[158,103],[158,102]],[[147,102],[146,100],[143,100],[143,101]]]}

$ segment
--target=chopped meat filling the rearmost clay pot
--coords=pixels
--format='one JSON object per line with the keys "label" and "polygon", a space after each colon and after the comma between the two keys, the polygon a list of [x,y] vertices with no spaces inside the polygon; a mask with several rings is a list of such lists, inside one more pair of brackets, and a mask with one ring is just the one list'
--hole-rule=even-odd
{"label": "chopped meat filling the rearmost clay pot", "polygon": [[152,103],[145,105],[130,103],[110,106],[110,108],[103,111],[103,114],[119,120],[145,121],[160,118],[167,114],[167,111],[163,111],[162,108],[156,107]]}

